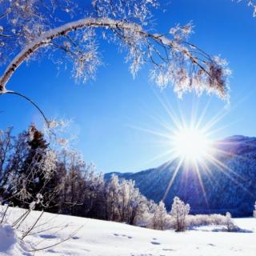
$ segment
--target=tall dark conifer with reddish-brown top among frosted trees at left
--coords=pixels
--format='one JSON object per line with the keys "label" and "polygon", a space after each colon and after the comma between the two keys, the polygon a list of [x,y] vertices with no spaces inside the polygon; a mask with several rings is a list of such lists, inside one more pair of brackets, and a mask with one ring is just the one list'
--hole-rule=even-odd
{"label": "tall dark conifer with reddish-brown top among frosted trees at left", "polygon": [[[14,144],[15,150],[12,152],[13,162],[10,165],[12,171],[9,172],[8,177],[10,197],[8,201],[15,206],[23,207],[33,202],[33,208],[47,209],[61,184],[59,181],[58,183],[54,181],[57,155],[54,150],[48,148],[44,134],[33,125],[18,138],[22,138],[22,143]],[[19,148],[20,146],[24,147],[23,150]]]}

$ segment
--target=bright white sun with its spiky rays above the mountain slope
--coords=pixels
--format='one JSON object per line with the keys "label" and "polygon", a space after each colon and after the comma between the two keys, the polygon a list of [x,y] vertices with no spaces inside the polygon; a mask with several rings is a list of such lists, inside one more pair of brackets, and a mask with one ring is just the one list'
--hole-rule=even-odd
{"label": "bright white sun with its spiky rays above the mountain slope", "polygon": [[166,164],[162,165],[162,168],[166,168],[166,170],[170,169],[172,173],[168,186],[166,187],[166,193],[162,199],[164,200],[168,195],[180,171],[185,174],[182,174],[182,180],[183,178],[188,178],[189,175],[187,174],[190,172],[198,177],[203,196],[206,198],[202,173],[209,175],[209,177],[214,177],[211,167],[216,166],[218,170],[223,171],[223,174],[228,177],[232,177],[229,172],[233,174],[233,171],[218,158],[218,155],[227,153],[222,149],[222,141],[216,141],[216,135],[214,135],[217,131],[222,130],[222,127],[216,128],[214,126],[224,116],[223,111],[216,114],[214,118],[211,118],[208,122],[205,122],[204,116],[209,104],[206,105],[206,108],[199,116],[196,113],[198,106],[193,106],[190,117],[184,116],[182,109],[180,109],[179,117],[177,113],[172,110],[170,104],[165,104],[165,102],[162,102],[162,106],[166,109],[170,120],[168,119],[166,122],[166,120],[162,120],[162,118],[154,116],[152,118],[156,119],[159,124],[165,128],[164,131],[136,127],[160,137],[161,140],[158,140],[156,145],[164,146],[162,154],[158,154],[151,160],[167,158]]}

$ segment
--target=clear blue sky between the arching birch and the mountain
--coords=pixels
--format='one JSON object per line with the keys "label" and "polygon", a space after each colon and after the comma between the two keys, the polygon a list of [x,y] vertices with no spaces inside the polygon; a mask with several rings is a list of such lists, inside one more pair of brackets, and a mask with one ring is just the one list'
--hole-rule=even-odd
{"label": "clear blue sky between the arching birch and the mountain", "polygon": [[[233,134],[256,136],[256,18],[245,3],[231,0],[173,0],[166,12],[156,12],[156,26],[166,32],[177,23],[194,22],[194,42],[210,54],[221,54],[233,70],[230,79],[230,105],[202,95],[185,95],[179,100],[171,87],[159,90],[149,82],[146,70],[133,79],[116,46],[102,45],[105,66],[98,70],[95,81],[75,84],[70,70],[61,70],[48,59],[22,65],[11,78],[8,88],[32,98],[48,118],[72,118],[69,132],[77,134],[74,147],[86,161],[94,162],[99,171],[136,171],[166,162],[168,150],[162,138],[145,130],[166,133],[165,122],[173,126],[166,102],[178,118],[190,122],[191,112],[200,116],[208,106],[203,123],[225,114],[213,127],[214,138]],[[15,96],[0,97],[0,128],[14,126],[18,133],[40,116],[33,106]],[[134,128],[139,127],[142,129]],[[143,130],[144,129],[144,130]]]}

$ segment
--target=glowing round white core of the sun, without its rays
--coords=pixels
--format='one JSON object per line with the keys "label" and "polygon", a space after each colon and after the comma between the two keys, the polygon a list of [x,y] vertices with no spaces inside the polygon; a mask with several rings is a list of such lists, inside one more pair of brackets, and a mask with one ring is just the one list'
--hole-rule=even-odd
{"label": "glowing round white core of the sun, without its rays", "polygon": [[202,162],[209,156],[211,141],[202,130],[182,127],[174,133],[174,154],[189,162]]}

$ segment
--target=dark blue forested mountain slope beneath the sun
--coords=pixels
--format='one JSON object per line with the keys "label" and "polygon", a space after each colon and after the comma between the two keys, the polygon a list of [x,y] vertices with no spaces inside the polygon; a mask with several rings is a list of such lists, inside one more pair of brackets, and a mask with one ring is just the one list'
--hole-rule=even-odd
{"label": "dark blue forested mountain slope beneath the sun", "polygon": [[[256,138],[232,136],[216,143],[214,162],[200,166],[200,178],[194,166],[181,166],[169,193],[178,159],[162,166],[135,173],[109,173],[132,179],[146,196],[159,202],[166,194],[166,208],[170,210],[174,196],[190,204],[194,214],[229,211],[233,216],[251,216],[256,201]],[[202,187],[203,184],[203,187]]]}

